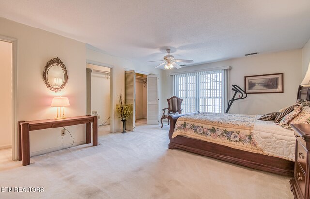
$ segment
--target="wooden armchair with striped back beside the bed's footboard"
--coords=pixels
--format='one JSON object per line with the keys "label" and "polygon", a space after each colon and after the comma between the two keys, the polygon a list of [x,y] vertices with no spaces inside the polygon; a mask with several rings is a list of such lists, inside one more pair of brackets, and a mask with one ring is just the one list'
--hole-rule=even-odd
{"label": "wooden armchair with striped back beside the bed's footboard", "polygon": [[[176,115],[176,114],[182,113],[182,109],[181,109],[182,101],[183,101],[183,99],[178,98],[176,96],[173,96],[173,97],[167,99],[168,108],[163,109],[164,113],[160,119],[161,128],[163,128],[163,119],[166,119],[166,118],[168,118],[168,116],[171,116],[171,115]],[[166,109],[168,109],[168,113],[165,114]],[[168,125],[169,125],[169,120],[168,120]]]}

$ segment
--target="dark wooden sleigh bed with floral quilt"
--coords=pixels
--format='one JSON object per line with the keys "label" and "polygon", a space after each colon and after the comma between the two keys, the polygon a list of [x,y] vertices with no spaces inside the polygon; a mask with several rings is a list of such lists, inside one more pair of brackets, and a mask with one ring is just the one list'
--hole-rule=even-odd
{"label": "dark wooden sleigh bed with floral quilt", "polygon": [[[310,101],[310,88],[299,87],[297,99]],[[262,171],[294,176],[295,137],[293,130],[272,124],[271,121],[257,121],[258,115],[228,115],[233,116],[226,122],[222,120],[224,114],[215,116],[211,113],[192,112],[169,116],[168,119],[171,122],[169,149],[181,149]],[[202,121],[203,116],[213,119],[205,122]],[[234,117],[239,117],[236,120],[244,122],[235,124]],[[229,124],[232,126],[228,126]],[[182,128],[191,129],[191,135],[184,134]],[[234,140],[232,136],[233,142],[227,140],[227,136],[231,136],[232,133],[235,133],[237,138],[236,132],[240,133],[239,139]],[[273,134],[274,132],[277,133]],[[206,137],[208,138],[205,139]],[[267,140],[268,137],[277,137],[275,140],[277,144],[270,144],[274,141]],[[221,140],[226,142],[221,142]],[[260,142],[267,142],[269,145],[262,146]],[[284,147],[279,147],[281,145]],[[274,146],[276,150],[273,150]],[[282,149],[285,149],[283,153]]]}

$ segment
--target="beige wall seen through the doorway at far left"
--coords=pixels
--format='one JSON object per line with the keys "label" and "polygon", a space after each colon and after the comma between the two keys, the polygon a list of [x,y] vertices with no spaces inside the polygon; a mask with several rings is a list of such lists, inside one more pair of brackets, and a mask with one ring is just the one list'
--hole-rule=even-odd
{"label": "beige wall seen through the doorway at far left", "polygon": [[12,43],[0,41],[0,149],[12,144]]}

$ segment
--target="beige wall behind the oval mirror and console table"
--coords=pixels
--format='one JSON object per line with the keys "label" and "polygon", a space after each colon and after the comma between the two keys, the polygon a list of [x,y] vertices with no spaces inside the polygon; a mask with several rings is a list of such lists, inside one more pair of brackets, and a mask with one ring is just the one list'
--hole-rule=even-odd
{"label": "beige wall behind the oval mirror and console table", "polygon": [[[51,107],[55,96],[68,97],[70,106],[66,116],[86,114],[85,43],[68,39],[41,29],[0,18],[0,35],[18,40],[17,120],[54,118]],[[58,93],[52,92],[43,82],[44,67],[51,58],[59,57],[67,67],[69,81]],[[1,105],[1,110],[4,108]],[[67,129],[75,142],[85,143],[85,127],[70,126]],[[72,142],[65,136],[64,144]],[[31,156],[61,149],[61,128],[31,131]]]}

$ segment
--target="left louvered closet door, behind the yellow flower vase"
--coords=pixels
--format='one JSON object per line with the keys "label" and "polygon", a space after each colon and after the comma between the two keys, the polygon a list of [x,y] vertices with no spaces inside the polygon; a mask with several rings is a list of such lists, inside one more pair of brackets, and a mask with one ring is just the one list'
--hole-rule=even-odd
{"label": "left louvered closet door, behind the yellow flower vase", "polygon": [[135,131],[135,98],[136,98],[136,76],[135,71],[126,71],[125,73],[125,103],[132,104],[133,112],[126,121],[126,130]]}

